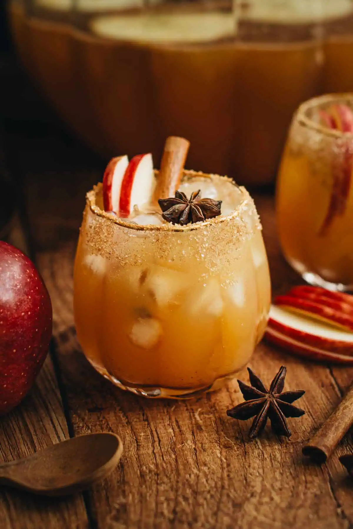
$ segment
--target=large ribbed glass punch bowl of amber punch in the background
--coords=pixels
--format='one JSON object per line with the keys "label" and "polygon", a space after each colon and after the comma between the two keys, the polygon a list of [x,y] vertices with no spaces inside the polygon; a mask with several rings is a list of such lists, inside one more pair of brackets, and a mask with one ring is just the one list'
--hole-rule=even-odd
{"label": "large ribbed glass punch bowl of amber punch in the background", "polygon": [[353,90],[350,0],[11,0],[9,13],[25,69],[105,159],[158,165],[175,134],[191,167],[268,184],[297,106]]}

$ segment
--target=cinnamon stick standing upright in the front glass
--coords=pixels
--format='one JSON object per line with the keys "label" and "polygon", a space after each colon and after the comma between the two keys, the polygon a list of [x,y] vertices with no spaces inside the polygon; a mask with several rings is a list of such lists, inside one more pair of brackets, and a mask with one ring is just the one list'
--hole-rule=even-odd
{"label": "cinnamon stick standing upright in the front glass", "polygon": [[175,195],[183,176],[184,163],[190,142],[179,136],[169,136],[164,145],[164,152],[160,162],[157,185],[153,193],[153,202],[159,198],[169,198]]}

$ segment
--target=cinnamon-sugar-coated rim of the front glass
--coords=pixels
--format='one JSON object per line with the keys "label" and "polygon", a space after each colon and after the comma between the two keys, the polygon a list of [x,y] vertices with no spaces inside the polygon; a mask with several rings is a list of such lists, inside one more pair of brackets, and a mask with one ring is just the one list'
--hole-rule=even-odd
{"label": "cinnamon-sugar-coated rim of the front glass", "polygon": [[[155,169],[155,175],[157,176],[159,171]],[[185,170],[183,171],[183,178],[185,177],[201,177],[201,178],[211,178],[212,176],[220,177],[229,180],[233,185],[237,185],[234,183],[234,180],[232,180],[229,177],[215,175],[215,174],[207,174],[202,171],[193,171],[193,170]],[[99,182],[97,185],[93,186],[93,189],[88,191],[86,193],[86,204],[88,205],[90,211],[99,217],[105,218],[105,220],[112,222],[114,224],[117,224],[118,226],[128,228],[130,230],[136,230],[136,231],[160,231],[160,232],[189,232],[189,231],[195,231],[200,230],[206,226],[212,226],[215,224],[220,224],[223,222],[228,222],[232,218],[238,217],[240,212],[244,207],[247,206],[249,203],[250,195],[248,194],[248,191],[243,186],[238,186],[240,189],[243,199],[241,200],[241,203],[230,213],[229,215],[224,216],[217,216],[213,218],[208,218],[207,220],[203,222],[196,222],[194,224],[189,223],[185,226],[182,226],[180,224],[171,224],[168,222],[168,224],[149,224],[149,225],[143,225],[143,224],[133,224],[132,222],[129,222],[127,220],[123,220],[122,218],[115,216],[113,213],[107,213],[100,207],[96,205],[96,196],[97,193],[103,188],[102,182]]]}

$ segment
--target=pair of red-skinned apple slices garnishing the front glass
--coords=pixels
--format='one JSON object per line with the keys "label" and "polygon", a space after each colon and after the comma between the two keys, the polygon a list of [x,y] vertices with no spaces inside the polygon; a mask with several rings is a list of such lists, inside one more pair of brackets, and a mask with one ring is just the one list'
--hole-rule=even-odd
{"label": "pair of red-skinned apple slices garnishing the front glass", "polygon": [[106,212],[129,217],[151,200],[155,188],[152,154],[138,154],[130,162],[117,156],[108,163],[103,176],[103,204]]}

